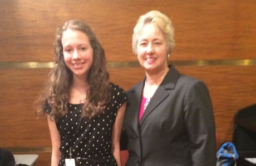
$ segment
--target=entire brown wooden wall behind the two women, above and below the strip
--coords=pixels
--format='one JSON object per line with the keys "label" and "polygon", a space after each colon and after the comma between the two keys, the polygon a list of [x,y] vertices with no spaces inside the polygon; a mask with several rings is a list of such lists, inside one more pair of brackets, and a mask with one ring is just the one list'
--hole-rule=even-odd
{"label": "entire brown wooden wall behind the two women, above and below the strip", "polygon": [[[37,165],[50,165],[46,118],[37,119],[32,105],[49,69],[16,68],[12,63],[51,62],[56,28],[68,19],[82,19],[95,30],[109,63],[127,62],[110,65],[109,71],[110,80],[128,90],[144,77],[142,68],[131,65],[137,62],[132,29],[139,15],[151,9],[173,20],[176,46],[171,61],[185,62],[176,68],[208,85],[220,142],[231,141],[235,112],[256,102],[255,8],[255,0],[1,0],[0,147],[40,154]],[[252,63],[223,63],[247,59]],[[214,64],[196,63],[201,60]]]}

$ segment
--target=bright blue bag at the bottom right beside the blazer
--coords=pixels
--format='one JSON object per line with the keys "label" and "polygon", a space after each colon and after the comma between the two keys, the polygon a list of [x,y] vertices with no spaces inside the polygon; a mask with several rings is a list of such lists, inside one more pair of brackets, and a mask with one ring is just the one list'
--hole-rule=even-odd
{"label": "bright blue bag at the bottom right beside the blazer", "polygon": [[237,165],[239,155],[237,149],[231,142],[224,143],[216,153],[217,166],[234,166]]}

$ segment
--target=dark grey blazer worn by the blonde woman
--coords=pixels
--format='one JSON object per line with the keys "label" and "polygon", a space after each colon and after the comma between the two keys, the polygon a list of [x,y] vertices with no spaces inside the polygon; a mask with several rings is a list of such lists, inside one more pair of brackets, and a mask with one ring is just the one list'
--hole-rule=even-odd
{"label": "dark grey blazer worn by the blonde woman", "polygon": [[144,82],[128,92],[127,166],[215,166],[215,122],[206,85],[171,66],[138,122]]}

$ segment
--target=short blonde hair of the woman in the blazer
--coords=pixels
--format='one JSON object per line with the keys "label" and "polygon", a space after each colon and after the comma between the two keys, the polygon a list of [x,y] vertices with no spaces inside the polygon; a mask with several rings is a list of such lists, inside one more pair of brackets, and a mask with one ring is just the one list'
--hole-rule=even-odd
{"label": "short blonde hair of the woman in the blazer", "polygon": [[171,23],[171,20],[163,13],[159,11],[150,11],[144,15],[141,15],[137,24],[134,27],[134,34],[132,35],[132,51],[137,54],[137,43],[140,37],[142,28],[146,24],[155,24],[161,32],[163,32],[168,50],[167,54],[170,54],[173,51],[175,46],[174,40],[174,27]]}

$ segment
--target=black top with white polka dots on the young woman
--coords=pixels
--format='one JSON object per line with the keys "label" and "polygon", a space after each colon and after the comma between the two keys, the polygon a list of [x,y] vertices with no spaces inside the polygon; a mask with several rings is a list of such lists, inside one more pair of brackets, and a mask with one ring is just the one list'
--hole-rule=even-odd
{"label": "black top with white polka dots on the young woman", "polygon": [[[111,134],[119,107],[126,102],[126,92],[118,85],[111,84],[111,101],[104,113],[96,118],[83,119],[75,136],[75,130],[80,120],[81,104],[69,104],[68,114],[59,120],[56,125],[61,136],[60,151],[62,157],[59,166],[65,165],[65,159],[69,158],[72,147],[72,158],[81,157],[76,164],[85,165],[117,165],[111,154]],[[51,107],[45,106],[45,112],[50,113]]]}

